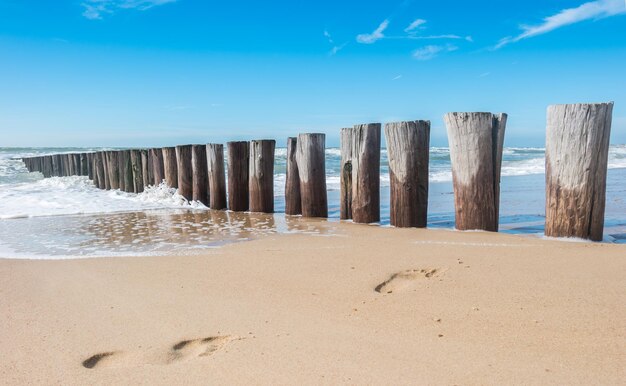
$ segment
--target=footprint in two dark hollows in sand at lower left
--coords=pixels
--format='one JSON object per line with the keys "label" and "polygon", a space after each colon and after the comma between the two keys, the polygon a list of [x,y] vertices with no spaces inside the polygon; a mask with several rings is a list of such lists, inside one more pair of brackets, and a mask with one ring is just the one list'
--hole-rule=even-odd
{"label": "footprint in two dark hollows in sand at lower left", "polygon": [[87,369],[129,367],[142,364],[169,365],[193,358],[210,356],[233,339],[233,337],[226,335],[182,340],[169,349],[146,353],[108,351],[92,355],[85,359],[82,364]]}

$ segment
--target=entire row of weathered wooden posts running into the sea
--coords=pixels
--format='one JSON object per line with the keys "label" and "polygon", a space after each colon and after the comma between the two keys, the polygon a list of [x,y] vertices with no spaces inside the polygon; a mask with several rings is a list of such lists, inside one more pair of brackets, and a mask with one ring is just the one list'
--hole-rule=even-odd
{"label": "entire row of weathered wooden posts running into the sea", "polygon": [[[612,102],[548,107],[546,235],[602,239],[612,108]],[[456,228],[497,231],[507,115],[448,113],[444,121]],[[390,222],[425,227],[430,121],[387,123],[384,131]],[[274,140],[228,142],[228,187],[222,144],[54,154],[24,162],[45,177],[89,176],[100,189],[140,193],[164,181],[211,209],[273,213],[275,145]],[[380,149],[380,123],[341,129],[341,219],[380,221]],[[287,140],[285,213],[328,216],[324,134]]]}

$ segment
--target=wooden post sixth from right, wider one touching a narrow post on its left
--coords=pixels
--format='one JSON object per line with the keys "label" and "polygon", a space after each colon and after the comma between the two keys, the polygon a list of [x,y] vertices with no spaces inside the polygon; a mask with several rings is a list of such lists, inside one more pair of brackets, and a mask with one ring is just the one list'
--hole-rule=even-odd
{"label": "wooden post sixth from right, wider one touching a narrow post on its left", "polygon": [[302,216],[328,217],[326,135],[300,134],[297,147]]}

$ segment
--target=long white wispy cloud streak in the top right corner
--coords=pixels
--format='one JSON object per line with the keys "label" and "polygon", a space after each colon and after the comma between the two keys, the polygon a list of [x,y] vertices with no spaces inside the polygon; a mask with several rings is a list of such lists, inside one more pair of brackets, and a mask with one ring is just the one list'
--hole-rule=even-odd
{"label": "long white wispy cloud streak in the top right corner", "polygon": [[602,19],[626,13],[625,0],[597,0],[584,3],[576,8],[567,8],[543,19],[543,23],[535,26],[521,26],[522,33],[517,36],[508,36],[500,39],[493,49],[499,49],[507,44],[519,42],[533,36],[543,35],[557,28],[579,23],[590,19]]}

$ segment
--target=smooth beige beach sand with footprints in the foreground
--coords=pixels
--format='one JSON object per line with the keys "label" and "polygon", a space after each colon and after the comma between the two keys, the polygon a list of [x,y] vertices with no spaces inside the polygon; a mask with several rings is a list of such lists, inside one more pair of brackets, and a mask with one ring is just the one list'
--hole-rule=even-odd
{"label": "smooth beige beach sand with footprints in the foreground", "polygon": [[336,232],[2,259],[0,383],[625,383],[625,246]]}

